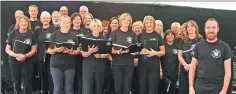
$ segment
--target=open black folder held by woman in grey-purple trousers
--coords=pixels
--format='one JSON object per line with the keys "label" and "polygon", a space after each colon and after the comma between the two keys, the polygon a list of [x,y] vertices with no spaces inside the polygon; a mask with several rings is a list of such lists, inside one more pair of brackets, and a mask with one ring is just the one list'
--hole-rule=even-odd
{"label": "open black folder held by woman in grey-purple trousers", "polygon": [[75,46],[75,42],[51,42],[51,41],[45,41],[45,46],[48,48],[50,45],[55,45],[56,47],[65,47],[68,49],[71,49]]}

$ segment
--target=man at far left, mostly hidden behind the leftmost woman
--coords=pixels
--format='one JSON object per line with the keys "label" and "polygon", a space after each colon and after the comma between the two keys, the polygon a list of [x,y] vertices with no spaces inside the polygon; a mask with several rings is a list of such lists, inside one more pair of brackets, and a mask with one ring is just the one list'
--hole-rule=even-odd
{"label": "man at far left, mostly hidden behind the leftmost woman", "polygon": [[[20,16],[24,15],[24,12],[22,10],[17,10],[15,12],[15,20],[16,20],[16,23],[18,21],[18,19],[20,18]],[[13,24],[10,26],[10,28],[8,29],[8,32],[7,32],[7,36],[9,36],[10,33],[12,33],[12,31],[15,30],[15,25],[16,24]]]}

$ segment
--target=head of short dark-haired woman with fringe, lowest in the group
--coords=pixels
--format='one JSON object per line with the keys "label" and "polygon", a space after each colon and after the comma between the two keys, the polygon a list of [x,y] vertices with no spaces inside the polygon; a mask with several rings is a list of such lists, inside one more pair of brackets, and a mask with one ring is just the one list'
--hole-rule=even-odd
{"label": "head of short dark-haired woman with fringe, lowest in the group", "polygon": [[164,35],[165,42],[174,42],[175,41],[175,32],[172,29],[167,29]]}

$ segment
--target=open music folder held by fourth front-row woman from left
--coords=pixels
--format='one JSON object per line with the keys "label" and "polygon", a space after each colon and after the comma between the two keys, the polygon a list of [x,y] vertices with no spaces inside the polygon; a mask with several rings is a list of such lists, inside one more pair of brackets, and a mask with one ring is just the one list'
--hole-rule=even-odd
{"label": "open music folder held by fourth front-row woman from left", "polygon": [[113,44],[113,46],[118,47],[122,50],[129,49],[129,53],[140,52],[142,50],[141,43],[136,43],[136,44],[132,44],[132,45],[129,45],[129,46],[124,46],[124,45],[120,45],[120,44]]}

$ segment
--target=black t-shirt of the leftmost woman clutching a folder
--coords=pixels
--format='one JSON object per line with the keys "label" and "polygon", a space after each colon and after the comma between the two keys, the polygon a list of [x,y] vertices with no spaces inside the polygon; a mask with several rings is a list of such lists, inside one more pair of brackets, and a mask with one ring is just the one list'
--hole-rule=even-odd
{"label": "black t-shirt of the leftmost woman clutching a folder", "polygon": [[[29,30],[25,33],[20,33],[19,29],[16,29],[12,31],[12,33],[7,37],[6,43],[11,46],[12,51],[14,48],[18,48],[18,47],[15,47],[14,45],[16,40],[22,41],[30,45],[31,47],[37,44],[36,35],[32,31],[29,31]],[[29,48],[29,51],[30,50],[31,48]],[[15,57],[9,56],[9,60],[11,61],[11,63],[18,63]],[[29,57],[26,59],[25,62],[31,61],[31,60],[32,60],[32,57]]]}

